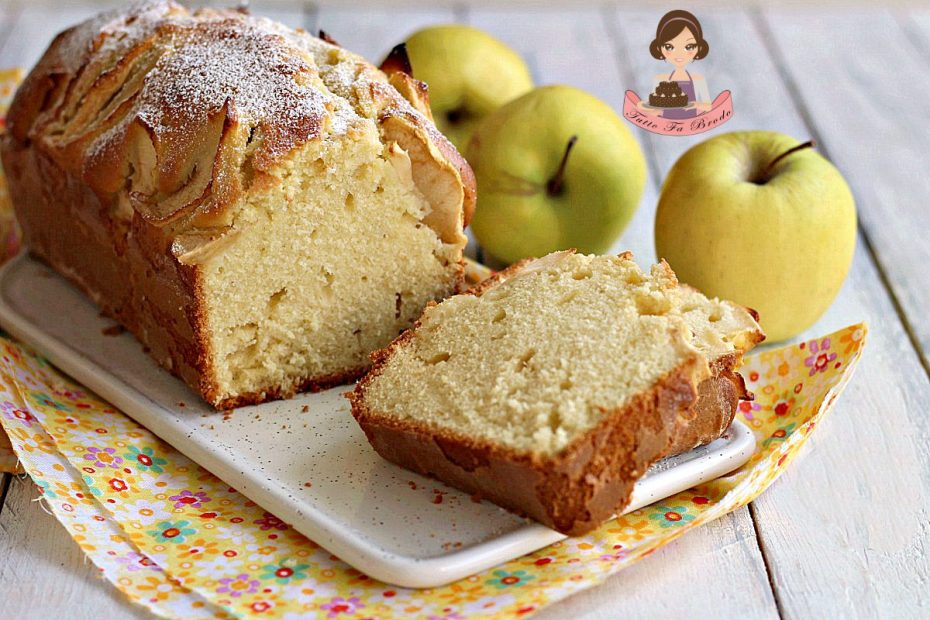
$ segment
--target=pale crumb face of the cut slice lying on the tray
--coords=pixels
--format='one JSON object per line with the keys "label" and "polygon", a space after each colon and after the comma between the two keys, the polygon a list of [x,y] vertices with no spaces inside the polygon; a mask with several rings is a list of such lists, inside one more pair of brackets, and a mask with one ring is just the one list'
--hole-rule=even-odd
{"label": "pale crumb face of the cut slice lying on the tray", "polygon": [[[664,264],[554,254],[480,296],[429,308],[366,387],[379,416],[517,453],[554,455],[682,364],[757,328],[743,309],[677,286]],[[690,360],[690,363],[689,363]]]}

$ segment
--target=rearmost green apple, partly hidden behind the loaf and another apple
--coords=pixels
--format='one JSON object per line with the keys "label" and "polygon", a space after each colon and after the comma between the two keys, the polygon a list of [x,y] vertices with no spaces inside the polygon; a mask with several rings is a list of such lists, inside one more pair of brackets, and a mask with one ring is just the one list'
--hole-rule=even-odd
{"label": "rearmost green apple, partly hidden behind the loaf and another apple", "polygon": [[411,35],[413,77],[429,85],[436,126],[460,151],[486,115],[533,88],[517,52],[469,26],[431,26]]}

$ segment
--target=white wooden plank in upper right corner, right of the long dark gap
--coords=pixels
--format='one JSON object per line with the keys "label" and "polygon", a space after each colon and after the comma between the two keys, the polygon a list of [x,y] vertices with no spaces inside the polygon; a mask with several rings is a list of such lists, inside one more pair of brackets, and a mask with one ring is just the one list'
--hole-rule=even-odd
{"label": "white wooden plank in upper right corner, right of the long dark gap", "polygon": [[[802,112],[847,173],[861,226],[926,364],[930,243],[914,235],[930,231],[930,175],[926,157],[919,156],[930,141],[930,13],[913,13],[904,20],[907,30],[888,11],[862,9],[769,11],[762,23]],[[843,95],[831,97],[831,90]]]}

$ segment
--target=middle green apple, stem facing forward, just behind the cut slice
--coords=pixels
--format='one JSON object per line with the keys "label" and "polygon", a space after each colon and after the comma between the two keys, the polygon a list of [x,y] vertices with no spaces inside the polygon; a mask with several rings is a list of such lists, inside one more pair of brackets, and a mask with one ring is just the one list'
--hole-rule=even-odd
{"label": "middle green apple, stem facing forward, just behind the cut slice", "polygon": [[472,230],[506,262],[572,247],[607,251],[646,183],[627,124],[570,86],[537,88],[488,116],[466,159],[478,180]]}

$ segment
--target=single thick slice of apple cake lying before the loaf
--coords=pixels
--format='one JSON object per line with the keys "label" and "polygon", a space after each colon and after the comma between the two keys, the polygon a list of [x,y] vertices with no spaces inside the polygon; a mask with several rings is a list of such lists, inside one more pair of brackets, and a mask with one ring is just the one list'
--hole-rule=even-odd
{"label": "single thick slice of apple cake lying before the loaf", "polygon": [[348,397],[384,458],[578,535],[726,430],[763,338],[664,262],[566,251],[430,305]]}

